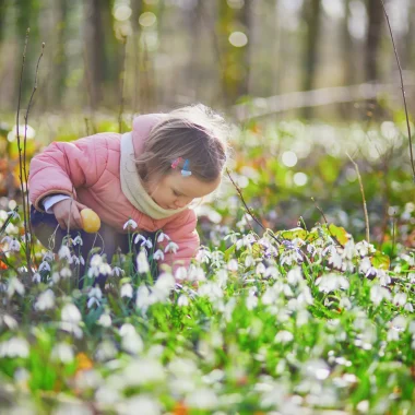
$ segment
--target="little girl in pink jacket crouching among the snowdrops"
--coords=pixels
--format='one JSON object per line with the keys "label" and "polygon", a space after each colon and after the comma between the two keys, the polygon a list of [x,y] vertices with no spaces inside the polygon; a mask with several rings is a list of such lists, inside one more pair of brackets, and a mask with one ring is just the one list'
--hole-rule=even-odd
{"label": "little girl in pink jacket crouching among the snowdrops", "polygon": [[[85,260],[95,244],[110,263],[117,249],[124,253],[129,249],[128,226],[153,239],[161,230],[178,245],[176,252],[164,253],[161,263],[173,270],[188,266],[199,248],[197,216],[189,205],[220,186],[227,132],[221,116],[195,105],[139,116],[132,131],[124,134],[106,132],[52,142],[31,162],[34,234],[48,248],[52,242],[57,252],[69,226],[72,238],[81,233]],[[84,208],[100,217],[102,245],[94,234],[76,230],[82,227]],[[80,275],[84,270],[81,266]]]}

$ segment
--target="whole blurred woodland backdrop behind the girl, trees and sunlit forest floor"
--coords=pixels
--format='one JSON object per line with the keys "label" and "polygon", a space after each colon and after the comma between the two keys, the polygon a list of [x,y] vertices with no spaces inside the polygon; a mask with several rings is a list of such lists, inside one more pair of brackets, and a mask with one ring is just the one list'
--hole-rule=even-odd
{"label": "whole blurred woodland backdrop behind the girl, trees and sunlit forest floor", "polygon": [[[415,1],[384,4],[412,121]],[[229,167],[268,227],[321,221],[315,198],[329,221],[363,236],[349,154],[371,235],[389,253],[396,235],[415,248],[406,117],[381,0],[0,0],[1,209],[20,194],[15,111],[27,27],[20,124],[46,44],[27,169],[51,141],[128,131],[134,114],[201,102],[238,126]],[[203,209],[206,240],[216,225],[246,225],[232,186]]]}

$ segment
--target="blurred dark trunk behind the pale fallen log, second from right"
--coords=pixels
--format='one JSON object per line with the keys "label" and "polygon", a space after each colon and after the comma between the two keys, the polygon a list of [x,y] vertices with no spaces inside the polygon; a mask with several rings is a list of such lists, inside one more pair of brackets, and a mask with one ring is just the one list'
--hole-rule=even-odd
{"label": "blurred dark trunk behind the pale fallen log, second from right", "polygon": [[[303,91],[310,91],[315,87],[316,68],[318,58],[318,46],[320,35],[320,15],[321,1],[309,0],[305,4],[305,20],[307,23],[307,39],[305,43],[305,75],[303,81]],[[304,109],[304,117],[310,118],[312,115],[311,108]]]}

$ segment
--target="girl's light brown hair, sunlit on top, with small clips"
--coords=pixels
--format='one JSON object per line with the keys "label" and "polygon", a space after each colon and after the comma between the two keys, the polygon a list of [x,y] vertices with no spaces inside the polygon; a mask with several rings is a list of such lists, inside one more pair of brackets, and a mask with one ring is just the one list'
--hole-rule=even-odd
{"label": "girl's light brown hair, sunlit on top, with small clips", "polygon": [[173,173],[171,163],[181,157],[192,176],[209,182],[224,171],[228,157],[229,127],[218,114],[198,104],[165,115],[150,133],[143,154],[135,159],[143,181]]}

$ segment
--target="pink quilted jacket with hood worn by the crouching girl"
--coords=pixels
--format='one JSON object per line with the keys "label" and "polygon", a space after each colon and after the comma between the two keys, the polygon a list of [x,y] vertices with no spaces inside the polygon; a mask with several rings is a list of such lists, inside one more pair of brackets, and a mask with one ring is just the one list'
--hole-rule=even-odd
{"label": "pink quilted jacket with hood worn by the crouching girl", "polygon": [[[132,140],[137,156],[158,121],[157,115],[134,119]],[[122,227],[129,218],[135,221],[140,229],[162,229],[179,246],[177,253],[166,253],[163,262],[189,265],[199,248],[194,211],[187,209],[167,218],[153,220],[133,206],[121,190],[120,141],[121,134],[106,132],[69,143],[52,142],[31,162],[28,193],[32,204],[44,211],[40,201],[46,195],[73,194],[119,233],[127,233]]]}

